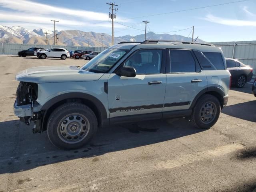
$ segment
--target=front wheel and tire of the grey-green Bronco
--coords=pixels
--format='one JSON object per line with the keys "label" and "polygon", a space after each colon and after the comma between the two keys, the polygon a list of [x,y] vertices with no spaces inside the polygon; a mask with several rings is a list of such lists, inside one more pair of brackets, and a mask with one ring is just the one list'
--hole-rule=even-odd
{"label": "front wheel and tire of the grey-green Bronco", "polygon": [[61,149],[76,149],[88,143],[98,128],[94,112],[81,103],[66,103],[56,108],[47,122],[50,142]]}

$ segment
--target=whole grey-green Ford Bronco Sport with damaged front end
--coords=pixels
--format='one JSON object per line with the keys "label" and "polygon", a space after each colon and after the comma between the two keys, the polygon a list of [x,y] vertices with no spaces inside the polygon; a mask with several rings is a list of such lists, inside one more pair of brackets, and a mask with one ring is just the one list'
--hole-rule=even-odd
{"label": "whole grey-green Ford Bronco Sport with damaged front end", "polygon": [[208,129],[228,102],[230,79],[222,50],[212,44],[120,43],[84,66],[19,72],[14,113],[64,149],[117,123],[185,117]]}

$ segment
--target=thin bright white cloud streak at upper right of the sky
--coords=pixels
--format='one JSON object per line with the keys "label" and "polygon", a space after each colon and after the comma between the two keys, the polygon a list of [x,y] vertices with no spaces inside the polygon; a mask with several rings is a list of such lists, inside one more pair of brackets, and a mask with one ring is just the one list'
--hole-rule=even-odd
{"label": "thin bright white cloud streak at upper right of the sky", "polygon": [[229,26],[256,26],[256,21],[221,18],[213,16],[212,14],[206,15],[203,20]]}

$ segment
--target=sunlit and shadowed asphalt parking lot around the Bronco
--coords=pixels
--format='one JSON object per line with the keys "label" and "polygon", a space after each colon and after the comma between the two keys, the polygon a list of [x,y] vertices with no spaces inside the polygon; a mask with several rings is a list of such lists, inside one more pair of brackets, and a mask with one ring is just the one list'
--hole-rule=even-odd
{"label": "sunlit and shadowed asphalt parking lot around the Bronco", "polygon": [[0,56],[0,192],[256,191],[256,97],[232,88],[209,130],[183,118],[98,130],[79,150],[58,150],[13,114],[15,74],[85,60]]}

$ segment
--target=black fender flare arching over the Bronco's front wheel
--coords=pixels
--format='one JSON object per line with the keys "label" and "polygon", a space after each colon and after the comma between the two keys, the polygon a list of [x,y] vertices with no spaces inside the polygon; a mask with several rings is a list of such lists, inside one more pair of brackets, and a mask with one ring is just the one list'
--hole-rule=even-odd
{"label": "black fender flare arching over the Bronco's front wheel", "polygon": [[48,100],[41,108],[41,110],[45,111],[44,118],[43,118],[43,124],[44,124],[44,119],[45,119],[48,109],[50,109],[54,104],[57,104],[58,102],[61,102],[63,100],[67,100],[67,99],[72,99],[72,98],[87,100],[90,103],[92,103],[96,107],[96,110],[98,112],[98,114],[96,114],[96,116],[98,115],[97,118],[99,118],[99,120],[100,120],[99,126],[109,125],[109,119],[107,118],[107,110],[104,107],[104,105],[102,104],[102,102],[100,100],[98,100],[96,97],[94,97],[90,94],[82,93],[82,92],[64,93],[64,94],[58,95],[58,96]]}

